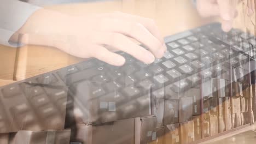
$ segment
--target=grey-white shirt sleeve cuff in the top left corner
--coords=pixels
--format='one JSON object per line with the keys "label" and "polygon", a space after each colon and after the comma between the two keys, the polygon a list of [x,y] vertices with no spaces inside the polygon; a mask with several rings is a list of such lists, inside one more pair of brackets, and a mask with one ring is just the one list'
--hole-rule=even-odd
{"label": "grey-white shirt sleeve cuff in the top left corner", "polygon": [[36,5],[18,0],[1,0],[0,3],[0,44],[19,47],[18,41],[10,41],[11,35],[18,31],[34,11]]}

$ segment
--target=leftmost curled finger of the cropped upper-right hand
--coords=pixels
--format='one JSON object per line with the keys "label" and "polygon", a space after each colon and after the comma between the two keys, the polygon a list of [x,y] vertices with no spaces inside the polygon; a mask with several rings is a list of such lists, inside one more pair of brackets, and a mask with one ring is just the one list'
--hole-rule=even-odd
{"label": "leftmost curled finger of the cropped upper-right hand", "polygon": [[197,11],[202,17],[219,16],[219,6],[211,1],[198,0]]}

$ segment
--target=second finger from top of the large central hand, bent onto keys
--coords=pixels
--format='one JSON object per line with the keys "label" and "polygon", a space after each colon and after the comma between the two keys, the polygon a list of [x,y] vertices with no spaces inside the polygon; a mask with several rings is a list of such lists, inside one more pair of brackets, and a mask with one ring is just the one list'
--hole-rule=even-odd
{"label": "second finger from top of the large central hand, bent onto keys", "polygon": [[147,46],[155,57],[161,58],[166,51],[166,45],[162,44],[152,33],[148,31],[141,23],[123,20],[105,20],[101,29],[106,32],[121,33],[133,39],[136,39],[143,45]]}

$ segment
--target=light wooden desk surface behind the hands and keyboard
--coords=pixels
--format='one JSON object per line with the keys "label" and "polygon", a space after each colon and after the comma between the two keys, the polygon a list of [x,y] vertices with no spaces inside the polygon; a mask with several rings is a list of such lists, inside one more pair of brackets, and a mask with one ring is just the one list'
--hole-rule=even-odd
{"label": "light wooden desk surface behind the hands and keyboard", "polygon": [[[113,2],[60,5],[58,7],[48,8],[62,12],[65,9],[68,13],[81,15],[82,11],[75,11],[79,7],[83,7],[88,13],[123,11],[124,13],[150,17],[156,21],[162,35],[174,34],[214,21],[213,18],[202,19],[197,14],[190,0],[119,0]],[[243,9],[244,7],[245,5],[241,4],[240,11],[245,11]],[[253,19],[252,21],[255,20]],[[236,24],[237,27],[243,29],[249,27],[254,31],[254,27],[251,25],[248,17],[243,18],[240,15],[236,20]],[[21,80],[79,61],[84,61],[84,59],[70,56],[54,47],[32,45],[19,49],[1,46],[0,60],[2,68],[0,79],[4,80]]]}

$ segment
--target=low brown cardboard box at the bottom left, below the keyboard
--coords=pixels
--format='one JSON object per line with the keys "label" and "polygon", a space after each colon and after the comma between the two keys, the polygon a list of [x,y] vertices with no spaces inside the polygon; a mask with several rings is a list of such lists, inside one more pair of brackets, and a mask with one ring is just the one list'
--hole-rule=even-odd
{"label": "low brown cardboard box at the bottom left, below the keyboard", "polygon": [[20,130],[17,133],[11,133],[9,144],[69,144],[71,130],[47,130],[47,131],[27,131]]}

